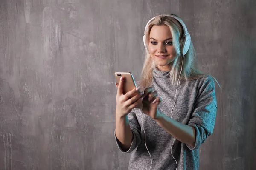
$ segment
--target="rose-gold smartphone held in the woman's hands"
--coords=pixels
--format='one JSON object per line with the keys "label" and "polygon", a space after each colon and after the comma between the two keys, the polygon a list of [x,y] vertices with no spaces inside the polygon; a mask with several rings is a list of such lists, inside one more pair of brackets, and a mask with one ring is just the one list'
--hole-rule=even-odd
{"label": "rose-gold smartphone held in the woman's hands", "polygon": [[[116,72],[115,73],[116,81],[119,84],[120,78],[125,77],[125,82],[123,85],[123,94],[127,93],[128,91],[133,90],[134,88],[137,88],[136,82],[134,80],[133,75],[130,72]],[[143,108],[143,104],[140,103],[137,105],[136,108]]]}

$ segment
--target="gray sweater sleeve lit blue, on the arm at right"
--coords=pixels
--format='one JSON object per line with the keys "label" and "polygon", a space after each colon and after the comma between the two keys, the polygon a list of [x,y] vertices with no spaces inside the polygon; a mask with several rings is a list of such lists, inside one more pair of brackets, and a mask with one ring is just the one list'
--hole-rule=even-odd
{"label": "gray sweater sleeve lit blue, on the arm at right", "polygon": [[208,136],[212,135],[217,112],[215,84],[212,77],[208,77],[198,90],[194,111],[188,125],[195,128],[195,147],[188,144],[190,150],[198,149]]}

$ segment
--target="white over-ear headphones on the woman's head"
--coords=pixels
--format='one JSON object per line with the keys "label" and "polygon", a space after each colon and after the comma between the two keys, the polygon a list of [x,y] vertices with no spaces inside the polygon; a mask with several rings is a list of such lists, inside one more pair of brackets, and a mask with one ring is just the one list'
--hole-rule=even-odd
{"label": "white over-ear headphones on the woman's head", "polygon": [[[172,15],[172,14],[163,14],[163,15],[158,15],[156,17],[159,17],[159,16],[169,16],[169,17],[173,17],[175,18],[176,20],[178,20],[178,22],[181,24],[181,26],[183,27],[183,31],[184,31],[184,34],[183,34],[183,37],[181,37],[181,40],[180,40],[180,52],[181,54],[184,56],[188,50],[189,50],[189,46],[190,46],[190,42],[191,42],[191,37],[190,37],[190,34],[186,28],[186,25],[185,23],[179,18],[179,17],[176,17],[175,15]],[[146,29],[149,25],[149,23],[154,20],[156,17],[152,18],[151,20],[148,21],[146,27],[145,27],[145,31],[144,31],[144,36],[143,36],[143,42],[144,42],[144,46],[145,46],[145,49],[148,51],[148,48],[147,48],[147,43],[146,43]]]}

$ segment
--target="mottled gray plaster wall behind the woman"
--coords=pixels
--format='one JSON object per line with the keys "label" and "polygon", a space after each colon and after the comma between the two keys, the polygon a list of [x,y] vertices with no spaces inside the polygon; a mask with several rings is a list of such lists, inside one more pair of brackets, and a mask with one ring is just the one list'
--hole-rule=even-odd
{"label": "mottled gray plaster wall behind the woman", "polygon": [[221,85],[200,169],[255,170],[255,0],[0,0],[0,170],[127,169],[114,72],[140,78],[144,27],[165,13]]}

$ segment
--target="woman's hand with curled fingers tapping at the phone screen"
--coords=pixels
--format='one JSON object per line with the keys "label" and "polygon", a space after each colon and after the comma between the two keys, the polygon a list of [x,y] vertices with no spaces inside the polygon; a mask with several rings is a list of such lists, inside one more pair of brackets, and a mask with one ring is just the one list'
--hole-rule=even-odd
{"label": "woman's hand with curled fingers tapping at the phone screen", "polygon": [[162,102],[162,99],[157,96],[157,92],[154,91],[152,87],[146,88],[144,90],[143,98],[143,113],[148,116],[151,116],[153,119],[156,119],[160,112],[158,110],[158,105]]}

